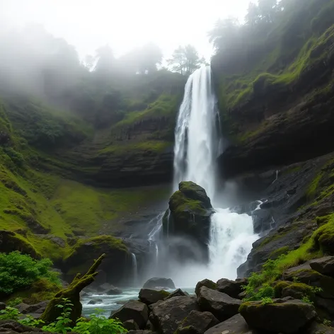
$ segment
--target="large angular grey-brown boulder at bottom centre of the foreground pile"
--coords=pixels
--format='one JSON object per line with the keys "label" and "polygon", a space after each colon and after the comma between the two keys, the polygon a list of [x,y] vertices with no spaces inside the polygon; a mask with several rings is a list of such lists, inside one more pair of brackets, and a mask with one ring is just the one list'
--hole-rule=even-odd
{"label": "large angular grey-brown boulder at bottom centre of the foreground pile", "polygon": [[198,310],[198,306],[193,297],[177,296],[166,301],[158,301],[152,304],[150,309],[149,319],[154,330],[161,334],[171,334],[191,311]]}

